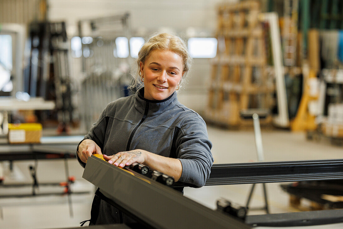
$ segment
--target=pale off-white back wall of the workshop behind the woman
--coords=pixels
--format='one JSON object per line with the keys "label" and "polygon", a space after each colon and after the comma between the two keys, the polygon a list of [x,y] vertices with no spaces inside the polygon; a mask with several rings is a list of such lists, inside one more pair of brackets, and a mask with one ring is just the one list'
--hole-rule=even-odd
{"label": "pale off-white back wall of the workshop behind the woman", "polygon": [[[77,36],[76,23],[80,19],[130,13],[133,36],[147,37],[150,33],[168,28],[182,37],[214,36],[217,25],[216,6],[237,0],[50,0],[48,18],[66,21],[70,37]],[[187,32],[188,31],[188,32]],[[80,59],[72,58],[73,75],[82,79]],[[202,112],[207,104],[210,60],[194,59],[188,85],[179,94],[180,102]]]}

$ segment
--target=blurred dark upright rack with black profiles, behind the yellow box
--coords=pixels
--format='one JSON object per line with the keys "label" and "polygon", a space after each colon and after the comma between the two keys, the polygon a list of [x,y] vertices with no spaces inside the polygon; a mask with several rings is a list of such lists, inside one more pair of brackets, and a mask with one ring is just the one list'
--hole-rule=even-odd
{"label": "blurred dark upright rack with black profiles, behind the yellow box", "polygon": [[38,120],[56,120],[59,131],[73,121],[69,42],[64,22],[33,22],[29,26],[29,62],[24,70],[24,91],[56,101],[53,112],[37,112]]}

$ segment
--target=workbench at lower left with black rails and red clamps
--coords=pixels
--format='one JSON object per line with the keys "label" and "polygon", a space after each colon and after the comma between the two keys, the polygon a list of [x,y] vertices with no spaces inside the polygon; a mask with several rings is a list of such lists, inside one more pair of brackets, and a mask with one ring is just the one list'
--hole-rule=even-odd
{"label": "workbench at lower left with black rails and red clamps", "polygon": [[[71,207],[70,194],[87,194],[89,192],[72,192],[70,189],[74,178],[69,175],[68,158],[76,158],[76,147],[84,136],[52,136],[42,137],[40,143],[34,144],[8,144],[6,138],[0,138],[0,161],[10,161],[10,170],[13,169],[13,161],[16,160],[35,160],[35,165],[30,166],[29,170],[33,182],[15,182],[6,184],[0,183],[0,188],[6,187],[24,187],[32,186],[31,194],[5,194],[0,195],[0,198],[19,198],[30,196],[46,196],[46,195],[68,195],[68,202],[70,207],[70,215],[73,215]],[[66,174],[66,181],[63,182],[38,182],[36,178],[36,169],[38,160],[41,159],[62,159],[64,160],[64,169]],[[76,160],[76,159],[74,159]],[[1,166],[1,164],[0,164]],[[39,186],[63,186],[63,192],[49,192],[38,193]]]}

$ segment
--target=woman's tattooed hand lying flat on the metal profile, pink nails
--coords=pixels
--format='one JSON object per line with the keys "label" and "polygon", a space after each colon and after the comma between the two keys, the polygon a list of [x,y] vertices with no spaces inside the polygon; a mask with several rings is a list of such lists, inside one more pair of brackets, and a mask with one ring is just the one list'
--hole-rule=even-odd
{"label": "woman's tattooed hand lying flat on the metal profile, pink nails", "polygon": [[104,159],[110,164],[114,164],[117,167],[123,168],[124,166],[128,166],[134,162],[144,164],[147,158],[147,153],[149,152],[141,149],[135,149],[131,151],[119,152],[112,156],[107,156],[104,154]]}

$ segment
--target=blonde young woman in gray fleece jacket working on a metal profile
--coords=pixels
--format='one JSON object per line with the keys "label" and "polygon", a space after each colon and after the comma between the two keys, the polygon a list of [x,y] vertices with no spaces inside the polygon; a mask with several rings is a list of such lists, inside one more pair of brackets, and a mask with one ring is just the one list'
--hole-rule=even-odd
{"label": "blonde young woman in gray fleece jacket working on a metal profile", "polygon": [[[107,105],[78,146],[81,165],[92,153],[104,154],[114,166],[139,162],[179,183],[203,186],[213,164],[212,144],[201,116],[180,104],[176,93],[191,61],[180,37],[167,33],[151,37],[139,51],[132,85],[141,81],[144,87]],[[97,207],[98,212],[93,210]],[[132,221],[95,197],[91,224],[119,222]]]}

